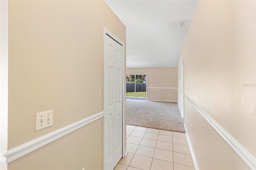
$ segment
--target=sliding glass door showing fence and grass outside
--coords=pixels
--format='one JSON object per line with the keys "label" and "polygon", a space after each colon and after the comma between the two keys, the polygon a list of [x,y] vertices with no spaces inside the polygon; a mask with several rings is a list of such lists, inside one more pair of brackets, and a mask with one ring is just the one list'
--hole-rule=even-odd
{"label": "sliding glass door showing fence and grass outside", "polygon": [[147,98],[147,75],[126,75],[126,98],[146,99]]}

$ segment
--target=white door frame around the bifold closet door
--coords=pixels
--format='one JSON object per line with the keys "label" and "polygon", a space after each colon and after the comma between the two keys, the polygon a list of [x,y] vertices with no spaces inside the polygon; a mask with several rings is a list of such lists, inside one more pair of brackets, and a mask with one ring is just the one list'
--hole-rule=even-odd
{"label": "white door frame around the bifold closet door", "polygon": [[[118,37],[116,37],[112,32],[110,32],[106,27],[104,27],[104,34],[103,34],[103,40],[105,42],[105,35],[108,35],[110,36],[113,40],[115,40],[116,42],[120,43],[122,45],[122,157],[126,156],[126,154],[128,153],[127,150],[125,149],[125,143],[126,143],[126,135],[125,135],[125,130],[126,130],[126,125],[125,125],[125,107],[124,107],[124,101],[125,101],[125,96],[126,96],[126,91],[125,90],[125,79],[126,79],[126,75],[125,75],[125,53],[124,53],[124,50],[125,50],[125,43],[122,42],[122,40],[120,40]],[[103,43],[104,44],[104,43]],[[105,48],[105,47],[104,47]],[[104,58],[105,58],[105,53],[104,53]],[[105,67],[105,63],[104,63],[104,67]],[[104,70],[104,69],[103,69]],[[105,76],[105,73],[104,73],[104,76]],[[104,83],[104,86],[105,86],[105,83]],[[104,96],[105,96],[105,91],[103,92],[104,93]],[[104,97],[103,97],[104,99]],[[103,101],[103,105],[104,105],[104,102]],[[104,105],[105,107],[105,105]],[[104,111],[105,111],[105,108],[104,108]],[[104,113],[105,114],[105,113]],[[104,122],[105,123],[105,122]],[[103,134],[104,134],[104,125],[103,125]],[[103,169],[105,169],[105,166],[104,166],[104,162],[105,162],[105,158],[104,158],[104,152],[105,152],[105,148],[104,148],[104,143],[106,141],[106,138],[105,136],[103,136]]]}

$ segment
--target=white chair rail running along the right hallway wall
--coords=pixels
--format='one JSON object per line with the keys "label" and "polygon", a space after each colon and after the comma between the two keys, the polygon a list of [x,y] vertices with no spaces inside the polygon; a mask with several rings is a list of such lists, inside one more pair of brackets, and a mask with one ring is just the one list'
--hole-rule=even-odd
{"label": "white chair rail running along the right hallway wall", "polygon": [[196,110],[212,125],[212,127],[226,140],[226,142],[236,151],[236,153],[252,168],[256,169],[256,158],[246,150],[236,139],[234,139],[224,128],[216,123],[211,117],[209,117],[203,110],[196,106],[186,95],[186,99],[196,108]]}

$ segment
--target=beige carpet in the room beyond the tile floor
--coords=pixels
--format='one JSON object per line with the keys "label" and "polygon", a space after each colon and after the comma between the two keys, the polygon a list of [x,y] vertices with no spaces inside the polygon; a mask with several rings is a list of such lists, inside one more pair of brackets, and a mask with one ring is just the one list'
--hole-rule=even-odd
{"label": "beige carpet in the room beyond the tile floor", "polygon": [[126,124],[185,133],[177,103],[126,99]]}

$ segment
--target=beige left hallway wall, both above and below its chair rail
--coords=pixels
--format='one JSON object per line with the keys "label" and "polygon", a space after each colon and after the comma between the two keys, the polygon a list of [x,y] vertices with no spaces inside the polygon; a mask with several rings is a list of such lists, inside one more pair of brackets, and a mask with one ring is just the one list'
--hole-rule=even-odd
{"label": "beige left hallway wall, both above and below its chair rail", "polygon": [[[125,26],[104,1],[9,2],[8,149],[103,111],[104,26],[126,42]],[[35,114],[48,110],[53,126],[35,132]],[[102,168],[102,124],[93,122],[8,169]]]}

